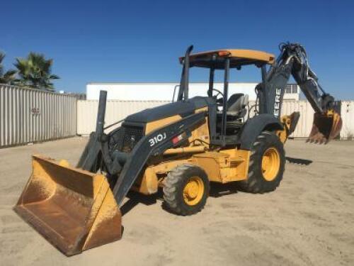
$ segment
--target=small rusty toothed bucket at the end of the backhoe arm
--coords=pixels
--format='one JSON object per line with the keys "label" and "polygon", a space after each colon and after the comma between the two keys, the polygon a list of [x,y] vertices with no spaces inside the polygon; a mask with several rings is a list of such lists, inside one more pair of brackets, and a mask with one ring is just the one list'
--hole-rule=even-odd
{"label": "small rusty toothed bucket at the end of the backhoe arm", "polygon": [[341,132],[342,118],[336,111],[314,113],[314,123],[307,141],[312,143],[329,143]]}

